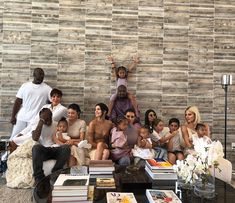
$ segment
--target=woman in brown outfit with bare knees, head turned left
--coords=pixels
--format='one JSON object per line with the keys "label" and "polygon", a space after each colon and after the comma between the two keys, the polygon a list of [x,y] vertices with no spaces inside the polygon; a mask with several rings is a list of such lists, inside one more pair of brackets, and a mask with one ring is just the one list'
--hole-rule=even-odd
{"label": "woman in brown outfit with bare knees, head turned left", "polygon": [[109,158],[109,136],[113,127],[107,118],[108,107],[99,103],[95,105],[95,118],[88,128],[88,141],[92,146],[90,158],[92,160],[106,160]]}

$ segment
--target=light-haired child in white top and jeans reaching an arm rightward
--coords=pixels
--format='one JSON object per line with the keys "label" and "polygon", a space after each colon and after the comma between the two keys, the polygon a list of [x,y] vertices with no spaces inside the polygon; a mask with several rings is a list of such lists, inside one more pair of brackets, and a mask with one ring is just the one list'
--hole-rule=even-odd
{"label": "light-haired child in white top and jeans reaching an arm rightward", "polygon": [[153,133],[151,139],[153,147],[156,150],[157,158],[163,158],[167,160],[167,150],[165,144],[175,136],[175,133],[170,133],[169,128],[164,127],[164,122],[161,119],[154,119],[153,121]]}

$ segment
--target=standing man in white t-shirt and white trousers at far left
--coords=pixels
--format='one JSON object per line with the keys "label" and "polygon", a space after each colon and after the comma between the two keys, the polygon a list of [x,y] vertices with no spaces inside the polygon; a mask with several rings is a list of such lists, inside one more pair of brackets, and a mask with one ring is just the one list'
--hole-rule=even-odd
{"label": "standing man in white t-shirt and white trousers at far left", "polygon": [[35,68],[33,81],[24,83],[16,94],[11,123],[13,126],[10,140],[18,135],[50,100],[51,87],[43,82],[44,71]]}

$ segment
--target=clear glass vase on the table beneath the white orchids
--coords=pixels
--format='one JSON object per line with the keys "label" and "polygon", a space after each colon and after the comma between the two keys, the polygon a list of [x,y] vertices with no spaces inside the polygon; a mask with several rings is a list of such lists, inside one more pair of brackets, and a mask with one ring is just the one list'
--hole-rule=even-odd
{"label": "clear glass vase on the table beneath the white orchids", "polygon": [[196,196],[211,199],[215,197],[215,177],[212,174],[202,174],[194,185]]}

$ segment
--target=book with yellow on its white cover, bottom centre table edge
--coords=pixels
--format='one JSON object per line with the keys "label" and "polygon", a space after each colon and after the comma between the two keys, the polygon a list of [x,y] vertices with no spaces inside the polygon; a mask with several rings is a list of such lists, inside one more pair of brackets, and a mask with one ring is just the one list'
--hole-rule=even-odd
{"label": "book with yellow on its white cover, bottom centre table edge", "polygon": [[107,192],[107,203],[137,203],[133,193]]}

